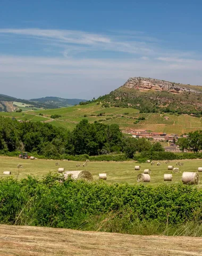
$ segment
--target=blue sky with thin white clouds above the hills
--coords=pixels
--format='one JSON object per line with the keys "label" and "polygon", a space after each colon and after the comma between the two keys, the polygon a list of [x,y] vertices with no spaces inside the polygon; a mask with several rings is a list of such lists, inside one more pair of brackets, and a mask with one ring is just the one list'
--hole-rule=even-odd
{"label": "blue sky with thin white clouds above the hills", "polygon": [[1,94],[92,99],[136,76],[202,85],[202,1],[0,2]]}

